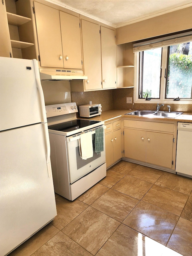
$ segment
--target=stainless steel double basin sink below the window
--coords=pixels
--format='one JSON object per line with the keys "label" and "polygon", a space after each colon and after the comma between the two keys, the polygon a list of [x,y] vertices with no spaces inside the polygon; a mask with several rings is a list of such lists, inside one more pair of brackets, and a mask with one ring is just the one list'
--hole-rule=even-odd
{"label": "stainless steel double basin sink below the window", "polygon": [[154,110],[136,110],[125,115],[129,116],[148,116],[148,117],[167,117],[167,118],[176,118],[181,115],[183,112],[166,112],[166,111],[154,111]]}

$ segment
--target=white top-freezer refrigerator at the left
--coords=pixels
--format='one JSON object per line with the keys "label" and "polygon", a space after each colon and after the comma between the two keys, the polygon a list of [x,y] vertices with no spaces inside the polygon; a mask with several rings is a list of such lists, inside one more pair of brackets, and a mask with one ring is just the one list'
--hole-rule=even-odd
{"label": "white top-freezer refrigerator at the left", "polygon": [[0,256],[56,215],[38,62],[0,57]]}

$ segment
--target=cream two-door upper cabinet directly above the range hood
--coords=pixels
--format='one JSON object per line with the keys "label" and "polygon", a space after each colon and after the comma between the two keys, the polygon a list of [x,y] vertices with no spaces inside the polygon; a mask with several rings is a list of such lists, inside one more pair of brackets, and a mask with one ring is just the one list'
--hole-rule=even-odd
{"label": "cream two-door upper cabinet directly above the range hood", "polygon": [[82,69],[79,17],[34,6],[41,67]]}

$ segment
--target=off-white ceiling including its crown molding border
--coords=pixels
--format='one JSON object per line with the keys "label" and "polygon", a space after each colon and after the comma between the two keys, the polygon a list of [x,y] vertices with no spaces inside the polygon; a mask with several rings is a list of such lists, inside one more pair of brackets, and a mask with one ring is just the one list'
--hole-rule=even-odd
{"label": "off-white ceiling including its crown molding border", "polygon": [[[121,27],[192,6],[192,0],[46,0],[87,17]],[[192,15],[192,14],[191,14]]]}

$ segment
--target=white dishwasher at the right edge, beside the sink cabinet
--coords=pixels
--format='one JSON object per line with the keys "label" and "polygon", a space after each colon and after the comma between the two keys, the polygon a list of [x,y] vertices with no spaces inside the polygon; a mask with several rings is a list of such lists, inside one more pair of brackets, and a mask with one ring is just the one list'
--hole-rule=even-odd
{"label": "white dishwasher at the right edge, beside the sink cabinet", "polygon": [[192,123],[177,125],[176,172],[192,178]]}

